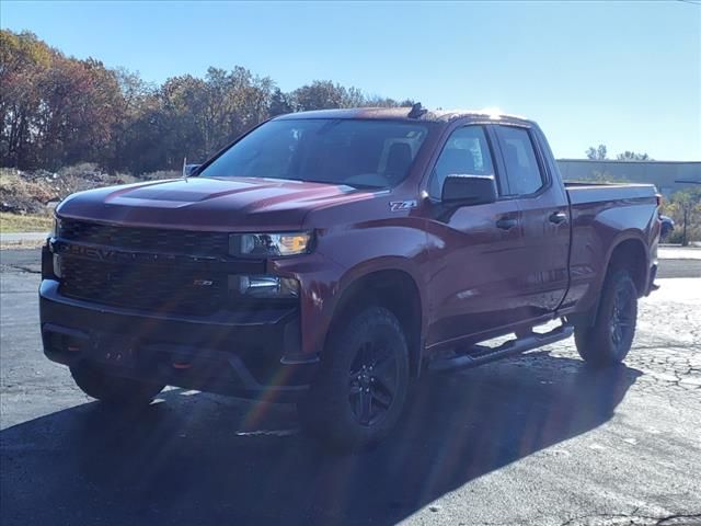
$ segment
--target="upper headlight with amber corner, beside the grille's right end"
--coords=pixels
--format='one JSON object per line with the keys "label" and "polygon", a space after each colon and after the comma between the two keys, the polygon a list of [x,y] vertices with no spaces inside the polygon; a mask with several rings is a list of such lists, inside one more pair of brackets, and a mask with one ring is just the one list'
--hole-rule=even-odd
{"label": "upper headlight with amber corner, beside the grille's right end", "polygon": [[234,233],[229,237],[229,253],[242,258],[268,258],[306,254],[311,232]]}

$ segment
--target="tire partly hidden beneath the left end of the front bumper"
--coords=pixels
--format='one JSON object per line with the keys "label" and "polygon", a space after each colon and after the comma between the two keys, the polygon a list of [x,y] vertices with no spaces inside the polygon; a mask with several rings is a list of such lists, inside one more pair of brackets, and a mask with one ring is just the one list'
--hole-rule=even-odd
{"label": "tire partly hidden beneath the left end of the front bumper", "polygon": [[70,374],[85,395],[115,407],[148,405],[165,387],[113,376],[87,362],[71,367]]}

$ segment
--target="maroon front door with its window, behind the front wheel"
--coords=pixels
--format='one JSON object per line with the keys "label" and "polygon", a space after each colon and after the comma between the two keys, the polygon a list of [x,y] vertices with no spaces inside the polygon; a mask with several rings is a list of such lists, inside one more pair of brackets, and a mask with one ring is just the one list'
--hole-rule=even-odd
{"label": "maroon front door with its window, behind the front wheel", "polygon": [[524,230],[518,199],[448,210],[439,204],[448,175],[495,175],[494,167],[485,126],[469,125],[447,139],[429,179],[428,346],[479,335],[528,315],[519,299]]}

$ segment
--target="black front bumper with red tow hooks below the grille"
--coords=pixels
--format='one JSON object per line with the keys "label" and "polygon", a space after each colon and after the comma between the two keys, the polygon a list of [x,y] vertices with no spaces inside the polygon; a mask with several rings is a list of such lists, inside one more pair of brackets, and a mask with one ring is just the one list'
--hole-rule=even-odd
{"label": "black front bumper with red tow hooks below the grille", "polygon": [[298,308],[206,318],[136,311],[67,298],[44,276],[39,313],[49,359],[69,366],[88,361],[114,375],[188,389],[294,401],[319,362],[300,352]]}

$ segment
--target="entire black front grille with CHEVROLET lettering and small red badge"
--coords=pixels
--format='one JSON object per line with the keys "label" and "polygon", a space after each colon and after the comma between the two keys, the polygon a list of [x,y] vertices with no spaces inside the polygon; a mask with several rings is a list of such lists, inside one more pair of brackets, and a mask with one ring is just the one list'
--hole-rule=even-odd
{"label": "entire black front grille with CHEVROLET lettering and small red badge", "polygon": [[227,232],[192,232],[61,219],[60,294],[162,313],[207,316],[231,300],[228,278],[265,273],[264,260],[228,255]]}

